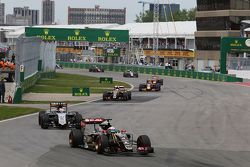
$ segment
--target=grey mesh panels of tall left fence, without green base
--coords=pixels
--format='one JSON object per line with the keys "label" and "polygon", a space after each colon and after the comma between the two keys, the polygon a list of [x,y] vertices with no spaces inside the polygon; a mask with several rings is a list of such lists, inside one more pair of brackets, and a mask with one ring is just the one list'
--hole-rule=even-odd
{"label": "grey mesh panels of tall left fence, without green base", "polygon": [[24,66],[24,79],[38,72],[38,60],[42,60],[42,71],[55,70],[56,43],[45,43],[40,38],[20,36],[16,43],[15,82],[20,86],[20,66]]}

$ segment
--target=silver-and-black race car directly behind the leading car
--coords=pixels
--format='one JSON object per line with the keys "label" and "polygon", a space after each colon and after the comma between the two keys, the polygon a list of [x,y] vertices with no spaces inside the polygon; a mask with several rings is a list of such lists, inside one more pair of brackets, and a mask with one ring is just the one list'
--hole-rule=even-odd
{"label": "silver-and-black race car directly behind the leading car", "polygon": [[38,123],[42,129],[49,127],[80,128],[82,116],[78,112],[70,112],[67,103],[50,103],[49,111],[41,111],[38,116]]}

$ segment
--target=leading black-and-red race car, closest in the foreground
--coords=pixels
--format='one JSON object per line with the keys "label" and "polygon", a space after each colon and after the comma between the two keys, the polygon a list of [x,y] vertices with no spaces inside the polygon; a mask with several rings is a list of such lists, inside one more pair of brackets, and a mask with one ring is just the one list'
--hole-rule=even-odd
{"label": "leading black-and-red race car, closest in the foreground", "polygon": [[71,147],[81,147],[96,151],[98,154],[131,154],[147,155],[154,153],[150,139],[141,135],[136,141],[126,130],[111,126],[111,119],[88,118],[82,121],[81,129],[72,129],[69,134]]}

